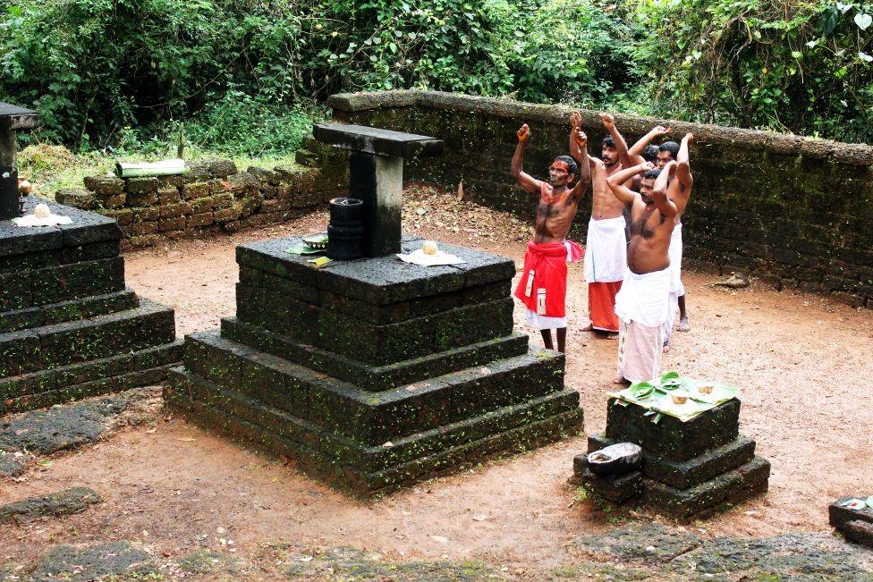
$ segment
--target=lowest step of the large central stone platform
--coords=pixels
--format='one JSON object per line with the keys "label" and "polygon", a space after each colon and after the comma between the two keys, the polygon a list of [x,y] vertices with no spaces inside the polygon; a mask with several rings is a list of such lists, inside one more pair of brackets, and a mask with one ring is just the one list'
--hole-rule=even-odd
{"label": "lowest step of the large central stone platform", "polygon": [[192,376],[170,371],[165,399],[199,426],[298,460],[297,467],[352,493],[371,495],[452,472],[499,451],[554,442],[581,430],[577,392],[564,390],[476,418],[367,446],[284,410]]}

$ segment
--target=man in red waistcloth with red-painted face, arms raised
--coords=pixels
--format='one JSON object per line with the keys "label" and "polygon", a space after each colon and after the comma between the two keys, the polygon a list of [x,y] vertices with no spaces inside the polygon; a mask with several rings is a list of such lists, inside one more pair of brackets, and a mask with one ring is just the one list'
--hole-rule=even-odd
{"label": "man in red waistcloth with red-painted face, arms raised", "polygon": [[[515,289],[515,297],[528,308],[527,322],[543,336],[548,350],[554,350],[552,329],[556,330],[558,351],[564,352],[567,338],[565,299],[567,294],[567,263],[579,259],[581,247],[566,240],[579,201],[588,190],[590,168],[587,153],[588,138],[578,128],[571,141],[583,152],[582,169],[570,156],[557,156],[548,169],[548,181],[538,181],[521,169],[524,148],[530,139],[527,123],[518,131],[518,146],[513,156],[513,178],[522,189],[537,194],[537,223],[533,240],[524,253],[524,270]],[[580,180],[570,189],[576,175]]]}

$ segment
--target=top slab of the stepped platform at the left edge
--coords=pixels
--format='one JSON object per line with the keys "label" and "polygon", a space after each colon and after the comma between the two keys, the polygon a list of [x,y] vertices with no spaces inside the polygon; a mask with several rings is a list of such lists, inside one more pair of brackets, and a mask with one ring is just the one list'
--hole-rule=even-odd
{"label": "top slab of the stepped platform at the left edge", "polygon": [[40,203],[47,204],[52,214],[69,216],[72,223],[21,227],[9,220],[0,221],[0,257],[119,240],[123,237],[123,232],[113,218],[65,207],[45,198],[24,198],[24,214],[33,214],[34,207]]}

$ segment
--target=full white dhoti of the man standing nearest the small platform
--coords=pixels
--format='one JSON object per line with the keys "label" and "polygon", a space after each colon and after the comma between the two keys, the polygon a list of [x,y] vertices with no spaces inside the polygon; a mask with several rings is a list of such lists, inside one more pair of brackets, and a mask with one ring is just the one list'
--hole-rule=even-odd
{"label": "full white dhoti of the man standing nearest the small platform", "polygon": [[661,371],[671,271],[624,276],[615,297],[621,320],[618,336],[618,375],[631,382],[651,380]]}

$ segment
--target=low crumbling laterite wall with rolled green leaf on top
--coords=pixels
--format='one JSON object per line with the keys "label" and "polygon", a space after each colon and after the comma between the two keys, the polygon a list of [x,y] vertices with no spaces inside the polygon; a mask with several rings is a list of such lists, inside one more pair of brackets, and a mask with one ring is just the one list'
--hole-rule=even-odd
{"label": "low crumbling laterite wall with rolled green leaf on top", "polygon": [[239,172],[230,160],[211,160],[174,176],[88,176],[84,189],[58,190],[55,199],[114,218],[125,249],[280,223],[323,206],[317,181],[315,168]]}

